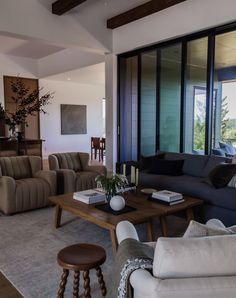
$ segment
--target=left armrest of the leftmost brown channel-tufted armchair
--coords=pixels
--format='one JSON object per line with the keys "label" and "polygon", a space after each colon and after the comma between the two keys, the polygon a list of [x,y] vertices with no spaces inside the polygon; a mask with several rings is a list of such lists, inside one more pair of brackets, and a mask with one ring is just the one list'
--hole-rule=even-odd
{"label": "left armrest of the leftmost brown channel-tufted armchair", "polygon": [[5,214],[16,211],[15,189],[15,179],[9,176],[0,177],[0,210]]}

